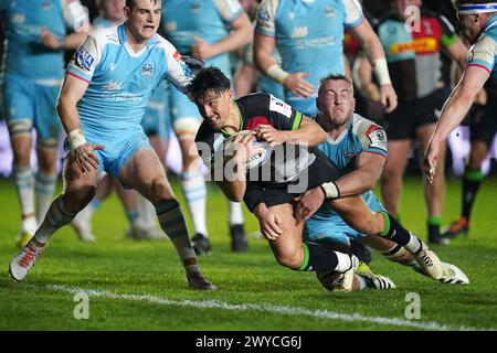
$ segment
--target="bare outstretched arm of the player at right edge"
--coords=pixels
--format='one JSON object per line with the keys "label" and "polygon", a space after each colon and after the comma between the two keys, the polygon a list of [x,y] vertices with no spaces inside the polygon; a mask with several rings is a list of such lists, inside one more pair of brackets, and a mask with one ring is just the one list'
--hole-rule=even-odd
{"label": "bare outstretched arm of the player at right edge", "polygon": [[442,143],[467,115],[476,94],[483,88],[490,73],[478,66],[467,66],[457,86],[445,103],[435,131],[424,156],[424,168],[430,182],[436,172],[436,162]]}

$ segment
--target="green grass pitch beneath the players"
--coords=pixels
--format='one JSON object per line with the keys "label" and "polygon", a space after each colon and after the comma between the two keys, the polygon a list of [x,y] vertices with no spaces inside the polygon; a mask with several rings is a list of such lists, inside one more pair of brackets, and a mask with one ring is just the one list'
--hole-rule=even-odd
{"label": "green grass pitch beneath the players", "polygon": [[[182,202],[178,182],[172,184]],[[24,282],[14,282],[7,268],[15,253],[19,206],[13,183],[2,180],[0,331],[496,330],[496,195],[497,180],[485,180],[469,236],[447,247],[433,247],[441,259],[461,267],[470,285],[442,285],[373,254],[371,268],[389,276],[398,288],[337,293],[325,291],[311,272],[277,265],[265,239],[252,236],[247,253],[231,253],[228,203],[211,185],[208,226],[213,254],[201,257],[200,265],[218,290],[197,292],[188,289],[168,240],[126,238],[127,222],[115,195],[94,217],[97,243],[81,243],[73,229],[65,227],[53,236]],[[450,180],[444,224],[458,215],[459,207],[461,182]],[[425,238],[426,214],[419,178],[406,180],[401,212],[404,225]],[[245,216],[247,232],[256,232],[255,218],[247,212]],[[81,303],[75,301],[77,292],[88,296],[88,319],[74,315]],[[409,319],[409,298],[416,295],[420,319]]]}

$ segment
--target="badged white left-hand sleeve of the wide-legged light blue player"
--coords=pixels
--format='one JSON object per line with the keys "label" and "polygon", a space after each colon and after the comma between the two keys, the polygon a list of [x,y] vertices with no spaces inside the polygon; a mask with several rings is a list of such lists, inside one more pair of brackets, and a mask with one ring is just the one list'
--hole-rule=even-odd
{"label": "badged white left-hand sleeve of the wide-legged light blue player", "polygon": [[74,53],[67,66],[67,74],[91,82],[95,68],[102,58],[103,49],[94,34],[88,34],[83,44]]}

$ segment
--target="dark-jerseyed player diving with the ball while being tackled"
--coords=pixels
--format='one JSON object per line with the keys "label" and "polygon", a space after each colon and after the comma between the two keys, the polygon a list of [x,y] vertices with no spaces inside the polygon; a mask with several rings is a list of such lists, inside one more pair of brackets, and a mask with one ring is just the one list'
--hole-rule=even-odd
{"label": "dark-jerseyed player diving with the ball while being tackled", "polygon": [[[436,255],[392,216],[372,213],[359,196],[340,197],[332,182],[339,172],[316,148],[325,140],[326,132],[314,120],[266,94],[253,94],[233,100],[230,81],[215,67],[200,71],[189,85],[188,95],[204,119],[195,138],[199,154],[211,168],[214,181],[224,194],[232,201],[243,199],[257,217],[261,232],[269,240],[281,265],[304,271],[327,269],[346,272],[343,288],[351,289],[356,258],[319,244],[303,243],[304,223],[297,222],[294,216],[294,199],[309,189],[320,188],[326,195],[325,202],[330,202],[334,210],[353,228],[388,237],[404,246],[430,277],[442,277]],[[216,156],[223,149],[223,140],[242,130],[252,132],[234,137],[234,152],[229,160],[233,168],[228,170],[232,172],[229,174],[226,159]],[[279,160],[279,163],[277,157],[271,158],[269,172],[266,173],[269,178],[253,180],[244,162],[251,156],[252,143],[256,138],[286,150],[297,146],[298,153],[289,153],[295,158]],[[275,154],[282,156],[276,150]],[[288,171],[285,165],[297,168],[289,168]]]}

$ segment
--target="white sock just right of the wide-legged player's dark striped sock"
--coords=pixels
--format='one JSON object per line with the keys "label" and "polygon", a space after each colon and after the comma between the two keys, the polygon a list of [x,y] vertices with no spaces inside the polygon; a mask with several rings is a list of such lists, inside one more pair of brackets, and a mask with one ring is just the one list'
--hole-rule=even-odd
{"label": "white sock just right of the wide-legged player's dark striped sock", "polygon": [[205,220],[207,188],[203,175],[200,172],[181,173],[181,186],[190,211],[193,233],[208,236]]}

